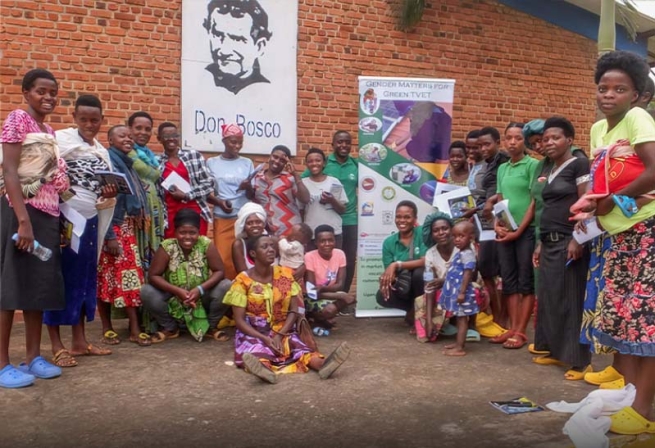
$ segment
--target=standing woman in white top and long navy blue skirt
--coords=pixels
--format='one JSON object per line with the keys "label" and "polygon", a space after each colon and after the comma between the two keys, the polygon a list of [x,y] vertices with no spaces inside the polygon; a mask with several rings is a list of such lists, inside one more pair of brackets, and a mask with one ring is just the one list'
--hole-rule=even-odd
{"label": "standing woman in white top and long navy blue skirt", "polygon": [[[98,171],[109,171],[109,153],[96,140],[102,126],[102,104],[93,95],[81,95],[75,101],[73,119],[76,128],[57,131],[61,156],[68,166],[71,189],[75,195],[66,201],[67,206],[86,219],[84,233],[77,250],[68,244],[61,250],[62,272],[66,293],[66,308],[46,311],[43,322],[48,326],[52,343],[53,362],[59,367],[77,365],[75,356],[103,356],[111,350],[96,347],[84,334],[85,320],[92,322],[96,312],[98,290],[98,206],[109,204],[105,198],[117,194],[115,186],[101,187],[95,179]],[[104,241],[104,235],[100,241]],[[59,327],[71,325],[73,341],[70,352],[61,340]]]}

